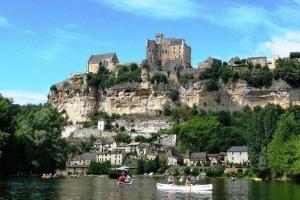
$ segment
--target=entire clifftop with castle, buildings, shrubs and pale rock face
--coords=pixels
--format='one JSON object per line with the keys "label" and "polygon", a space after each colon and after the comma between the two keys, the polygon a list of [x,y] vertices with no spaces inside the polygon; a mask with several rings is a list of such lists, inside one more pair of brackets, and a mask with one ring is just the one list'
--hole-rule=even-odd
{"label": "entire clifftop with castle, buildings, shrubs and pale rock face", "polygon": [[122,63],[116,53],[91,55],[86,72],[50,88],[48,102],[72,123],[94,112],[162,115],[178,107],[236,111],[268,103],[300,105],[300,53],[288,58],[209,57],[191,66],[184,39],[162,33],[146,41],[146,58]]}

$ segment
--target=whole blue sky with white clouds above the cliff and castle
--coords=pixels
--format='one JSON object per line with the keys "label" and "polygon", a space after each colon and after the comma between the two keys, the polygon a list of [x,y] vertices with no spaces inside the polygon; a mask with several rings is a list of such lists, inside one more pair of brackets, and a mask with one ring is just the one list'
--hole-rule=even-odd
{"label": "whole blue sky with white clouds above the cliff and castle", "polygon": [[300,51],[299,10],[300,0],[0,0],[0,93],[45,102],[91,54],[141,61],[157,32],[186,39],[194,67],[208,56],[286,56]]}

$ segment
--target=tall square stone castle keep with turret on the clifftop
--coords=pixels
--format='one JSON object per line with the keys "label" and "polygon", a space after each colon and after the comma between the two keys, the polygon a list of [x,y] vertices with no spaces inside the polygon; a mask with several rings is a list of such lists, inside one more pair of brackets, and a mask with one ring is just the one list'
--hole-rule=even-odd
{"label": "tall square stone castle keep with turret on the clifftop", "polygon": [[146,60],[150,70],[179,71],[191,68],[191,47],[183,39],[165,38],[162,33],[146,42]]}

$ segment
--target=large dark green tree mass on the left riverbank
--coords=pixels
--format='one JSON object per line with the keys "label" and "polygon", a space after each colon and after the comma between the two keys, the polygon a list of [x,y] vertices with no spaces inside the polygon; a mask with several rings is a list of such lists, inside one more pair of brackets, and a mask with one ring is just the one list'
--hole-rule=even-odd
{"label": "large dark green tree mass on the left riverbank", "polygon": [[0,173],[53,172],[64,168],[67,142],[61,138],[66,125],[49,105],[16,106],[0,96]]}

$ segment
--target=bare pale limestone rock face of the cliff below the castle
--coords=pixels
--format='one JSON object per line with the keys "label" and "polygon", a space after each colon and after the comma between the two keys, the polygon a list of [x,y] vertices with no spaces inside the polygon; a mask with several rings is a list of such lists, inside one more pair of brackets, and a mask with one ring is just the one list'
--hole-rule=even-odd
{"label": "bare pale limestone rock face of the cliff below the castle", "polygon": [[48,102],[58,108],[73,123],[86,121],[93,111],[109,114],[161,113],[163,105],[169,102],[170,89],[180,93],[181,105],[198,106],[203,110],[236,111],[244,106],[265,106],[268,103],[300,105],[300,89],[289,86],[284,81],[276,81],[269,88],[249,87],[245,81],[222,84],[218,91],[208,92],[201,81],[181,86],[179,84],[151,85],[147,80],[141,84],[117,85],[112,88],[96,90],[89,87],[86,74],[77,74],[51,87]]}

